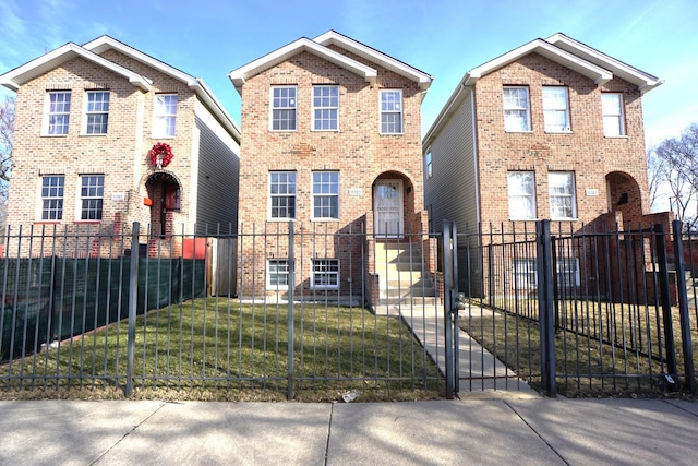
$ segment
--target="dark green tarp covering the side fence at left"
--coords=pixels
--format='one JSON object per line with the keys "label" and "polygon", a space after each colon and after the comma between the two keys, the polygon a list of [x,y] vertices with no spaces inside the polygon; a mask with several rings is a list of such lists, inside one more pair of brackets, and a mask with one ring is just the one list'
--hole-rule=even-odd
{"label": "dark green tarp covering the side fence at left", "polygon": [[[0,359],[124,319],[130,258],[0,260]],[[205,261],[139,260],[136,313],[206,295]]]}

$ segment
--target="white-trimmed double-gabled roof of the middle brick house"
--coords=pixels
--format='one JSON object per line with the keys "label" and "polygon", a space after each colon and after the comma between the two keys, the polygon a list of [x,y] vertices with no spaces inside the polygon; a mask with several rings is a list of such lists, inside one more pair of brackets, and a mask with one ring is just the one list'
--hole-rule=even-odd
{"label": "white-trimmed double-gabled roof of the middle brick house", "polygon": [[306,37],[301,37],[298,40],[294,40],[270,53],[265,55],[264,57],[231,71],[228,74],[228,77],[232,81],[236,89],[240,92],[242,85],[244,85],[248,79],[274,68],[298,53],[306,51],[362,76],[368,83],[375,83],[378,74],[377,70],[330,49],[328,47],[329,45],[336,45],[347,51],[365,58],[372,63],[380,64],[381,67],[394,71],[397,74],[411,79],[419,83],[420,88],[423,91],[428,89],[431,85],[432,76],[429,74],[334,31],[329,31],[317,36],[313,40]]}

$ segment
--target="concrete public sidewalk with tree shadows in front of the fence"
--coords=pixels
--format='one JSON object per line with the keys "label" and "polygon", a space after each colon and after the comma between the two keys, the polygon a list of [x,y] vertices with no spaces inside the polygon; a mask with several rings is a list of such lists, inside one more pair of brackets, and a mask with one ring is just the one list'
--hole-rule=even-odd
{"label": "concrete public sidewalk with tree shadows in front of the fence", "polygon": [[2,465],[694,465],[698,403],[0,402]]}

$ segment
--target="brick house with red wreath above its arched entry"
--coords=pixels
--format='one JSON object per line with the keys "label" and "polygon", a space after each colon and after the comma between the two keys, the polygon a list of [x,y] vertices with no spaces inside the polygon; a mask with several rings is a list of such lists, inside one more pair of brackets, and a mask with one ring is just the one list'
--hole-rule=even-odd
{"label": "brick house with red wreath above its arched entry", "polygon": [[237,228],[240,131],[201,79],[101,36],[38,57],[0,84],[16,92],[15,232],[120,232],[137,220],[154,248],[182,226]]}

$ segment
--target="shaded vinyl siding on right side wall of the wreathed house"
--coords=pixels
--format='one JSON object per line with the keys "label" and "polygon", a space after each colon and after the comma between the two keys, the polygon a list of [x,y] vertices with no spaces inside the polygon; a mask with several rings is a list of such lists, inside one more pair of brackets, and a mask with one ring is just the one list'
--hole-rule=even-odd
{"label": "shaded vinyl siding on right side wall of the wreathed house", "polygon": [[196,128],[200,131],[196,234],[237,232],[240,157],[198,117]]}

